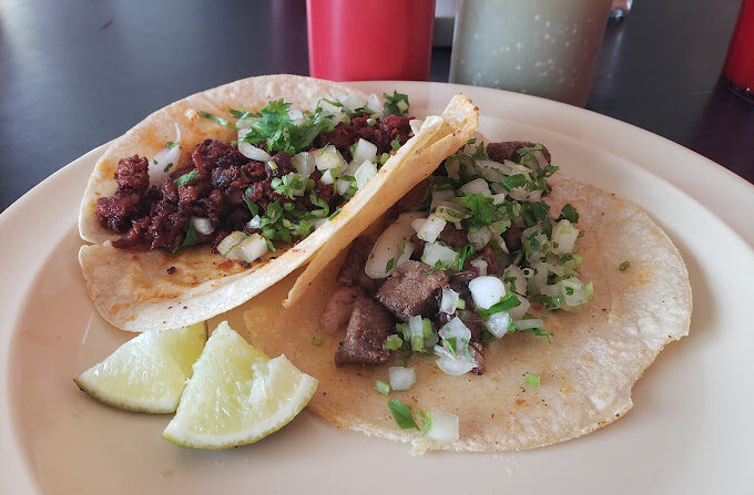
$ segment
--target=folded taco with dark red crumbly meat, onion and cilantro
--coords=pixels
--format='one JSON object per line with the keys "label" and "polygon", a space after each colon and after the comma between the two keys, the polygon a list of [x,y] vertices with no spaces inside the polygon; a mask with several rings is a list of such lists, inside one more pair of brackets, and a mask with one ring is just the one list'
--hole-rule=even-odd
{"label": "folded taco with dark red crumbly meat, onion and cilantro", "polygon": [[[291,274],[386,187],[429,175],[476,128],[462,95],[441,116],[408,97],[268,75],[147,116],[98,161],[81,205],[86,290],[131,331],[205,320]],[[411,171],[405,174],[405,171]]]}

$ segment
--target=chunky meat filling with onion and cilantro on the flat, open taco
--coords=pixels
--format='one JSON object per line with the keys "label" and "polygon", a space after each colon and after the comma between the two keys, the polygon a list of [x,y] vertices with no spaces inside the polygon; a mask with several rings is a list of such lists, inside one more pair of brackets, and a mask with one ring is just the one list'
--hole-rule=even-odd
{"label": "chunky meat filling with onion and cilantro on the flat, open taco", "polygon": [[540,144],[469,141],[398,205],[378,237],[348,251],[320,316],[346,328],[335,363],[434,354],[447,374],[486,371],[485,347],[508,332],[549,340],[546,310],[592,300],[579,279],[579,214],[542,202],[558,171]]}

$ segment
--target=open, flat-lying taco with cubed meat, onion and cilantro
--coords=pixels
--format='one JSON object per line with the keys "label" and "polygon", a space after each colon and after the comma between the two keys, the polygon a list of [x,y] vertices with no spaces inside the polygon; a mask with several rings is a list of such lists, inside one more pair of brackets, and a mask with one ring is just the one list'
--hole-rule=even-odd
{"label": "open, flat-lying taco with cubed meat, onion and cilantro", "polygon": [[310,410],[416,452],[532,448],[611,423],[687,334],[687,272],[640,208],[557,171],[540,144],[472,140],[249,301],[251,340],[318,378]]}

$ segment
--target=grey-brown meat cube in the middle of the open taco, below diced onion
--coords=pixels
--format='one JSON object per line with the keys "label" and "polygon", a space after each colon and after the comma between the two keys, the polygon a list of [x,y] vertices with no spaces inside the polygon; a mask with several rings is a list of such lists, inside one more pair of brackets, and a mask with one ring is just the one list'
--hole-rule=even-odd
{"label": "grey-brown meat cube in the middle of the open taco, below diced onion", "polygon": [[417,314],[432,316],[437,312],[436,292],[448,286],[448,276],[445,270],[427,275],[430,270],[426,264],[406,261],[379,288],[377,300],[404,322]]}

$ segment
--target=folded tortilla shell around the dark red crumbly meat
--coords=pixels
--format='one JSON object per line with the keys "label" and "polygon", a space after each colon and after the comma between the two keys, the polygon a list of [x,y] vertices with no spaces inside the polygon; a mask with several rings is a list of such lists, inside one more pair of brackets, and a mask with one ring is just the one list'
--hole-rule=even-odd
{"label": "folded tortilla shell around the dark red crumbly meat", "polygon": [[[389,206],[381,199],[384,189],[407,190],[416,174],[429,175],[477,127],[477,110],[471,101],[455,96],[441,116],[425,120],[419,133],[385,163],[336,217],[293,248],[268,252],[251,268],[224,262],[207,245],[171,255],[163,250],[116,249],[110,244],[121,235],[103,228],[94,212],[96,198],[115,192],[113,175],[120,158],[134,154],[154,156],[165,142],[175,138],[177,125],[182,154],[176,168],[180,168],[202,141],[236,137],[235,131],[200,117],[198,111],[224,114],[228,106],[258,111],[279,97],[294,109],[309,109],[323,96],[339,97],[347,93],[361,94],[344,84],[297,75],[249,78],[165,106],[116,138],[94,166],[79,216],[81,238],[92,243],[81,247],[79,261],[86,291],[100,314],[123,330],[145,331],[192,324],[225,312],[306,264],[336,233],[349,233],[351,221],[361,225],[364,218],[378,216],[384,212],[381,206],[385,209]],[[167,274],[171,267],[175,267],[171,269],[173,275]]]}

